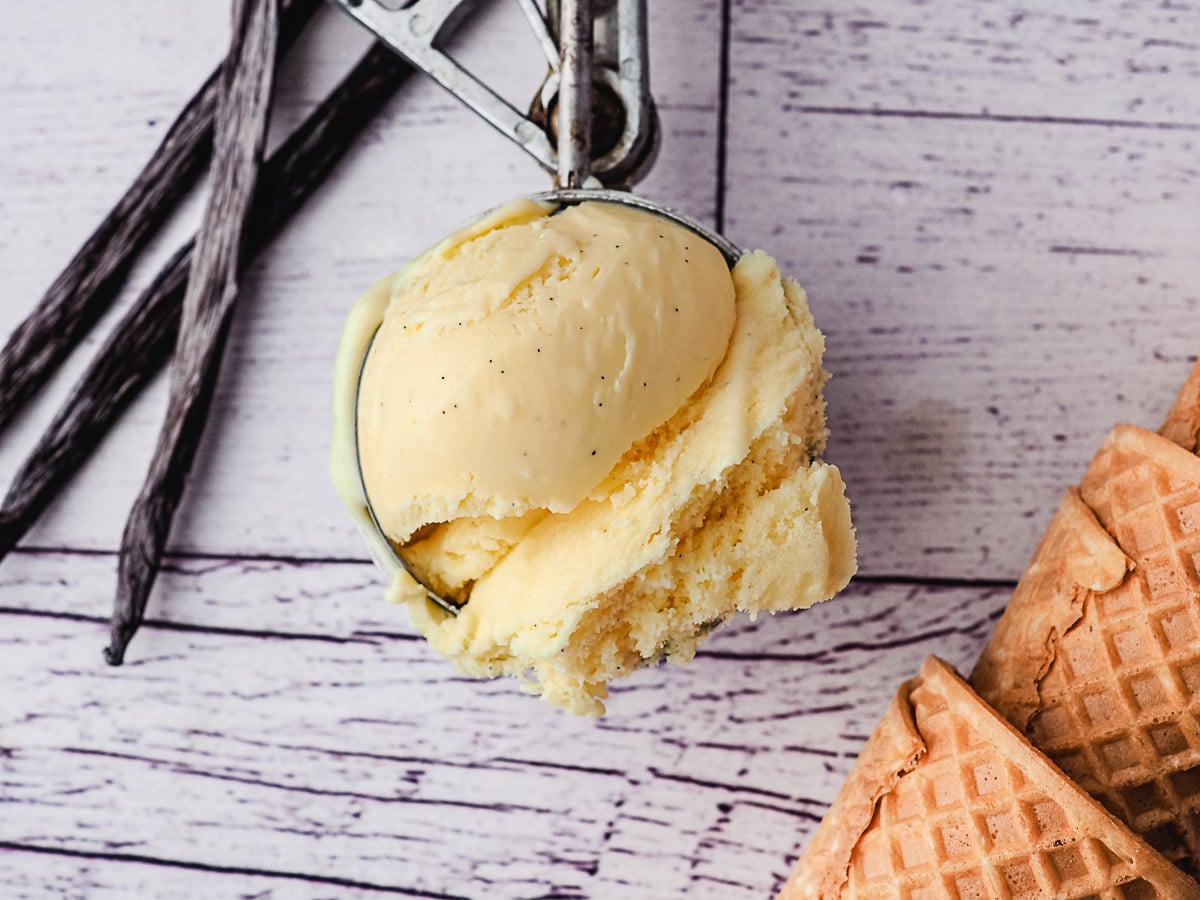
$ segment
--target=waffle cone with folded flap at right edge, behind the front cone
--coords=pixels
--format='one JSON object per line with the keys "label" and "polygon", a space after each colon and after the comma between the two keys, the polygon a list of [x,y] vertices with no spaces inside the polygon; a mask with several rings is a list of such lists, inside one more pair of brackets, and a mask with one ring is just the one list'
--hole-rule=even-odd
{"label": "waffle cone with folded flap at right edge, behind the front cone", "polygon": [[1193,875],[1200,871],[1200,458],[1190,446],[1198,376],[1200,365],[1163,433],[1132,425],[1110,432],[1058,508],[971,677],[1034,746]]}

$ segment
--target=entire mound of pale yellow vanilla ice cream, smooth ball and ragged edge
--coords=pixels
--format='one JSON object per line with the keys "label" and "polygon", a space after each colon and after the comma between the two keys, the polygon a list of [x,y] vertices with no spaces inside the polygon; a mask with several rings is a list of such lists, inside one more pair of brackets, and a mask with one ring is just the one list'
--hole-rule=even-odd
{"label": "entire mound of pale yellow vanilla ice cream, smooth ball and ragged edge", "polygon": [[[854,572],[842,480],[818,458],[822,352],[763,253],[731,272],[652,212],[517,200],[353,310],[335,482],[434,649],[600,714],[611,679]],[[457,616],[389,562],[364,485],[409,566],[466,600]]]}

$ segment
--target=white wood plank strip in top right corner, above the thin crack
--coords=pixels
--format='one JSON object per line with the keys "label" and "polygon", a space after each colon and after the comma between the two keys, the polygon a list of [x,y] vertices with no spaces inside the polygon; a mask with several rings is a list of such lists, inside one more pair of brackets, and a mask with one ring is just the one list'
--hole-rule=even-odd
{"label": "white wood plank strip in top right corner, above the thin crack", "polygon": [[733,84],[780,110],[1200,125],[1194,2],[746,0]]}

